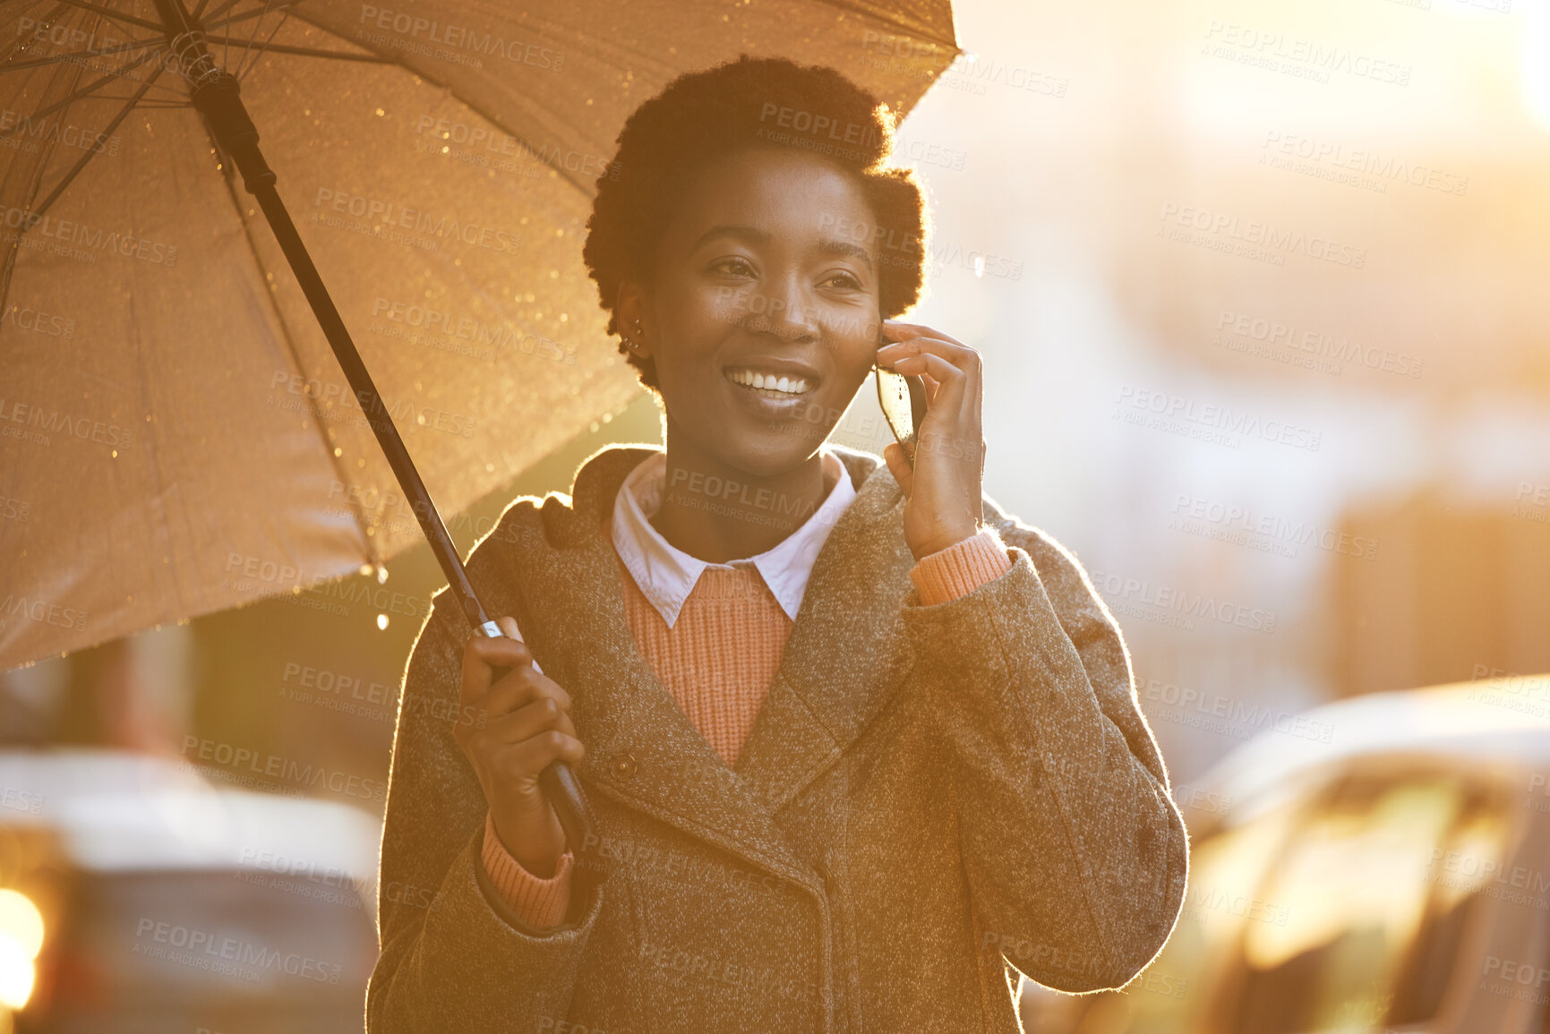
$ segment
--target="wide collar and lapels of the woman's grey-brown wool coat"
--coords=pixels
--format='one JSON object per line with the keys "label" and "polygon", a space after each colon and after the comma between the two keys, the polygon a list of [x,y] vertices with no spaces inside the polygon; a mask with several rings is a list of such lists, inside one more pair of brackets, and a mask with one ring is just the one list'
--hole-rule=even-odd
{"label": "wide collar and lapels of the woman's grey-brown wool coat", "polygon": [[[834,450],[856,501],[814,561],[808,592],[770,691],[728,769],[674,702],[636,645],[608,515],[625,476],[649,454],[615,446],[577,473],[569,505],[516,504],[491,538],[507,550],[502,581],[544,671],[572,695],[586,757],[578,774],[604,794],[752,862],[812,884],[777,822],[780,809],[882,710],[904,670],[899,606],[913,563],[904,496],[876,456]],[[536,518],[538,527],[521,527]],[[603,831],[606,836],[608,831]]]}

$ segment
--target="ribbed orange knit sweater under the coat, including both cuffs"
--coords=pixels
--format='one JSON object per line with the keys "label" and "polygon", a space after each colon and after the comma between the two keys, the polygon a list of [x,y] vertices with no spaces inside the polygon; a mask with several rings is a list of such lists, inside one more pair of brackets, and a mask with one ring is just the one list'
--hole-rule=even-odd
{"label": "ribbed orange knit sweater under the coat, including both cuffs", "polygon": [[[990,529],[922,558],[910,570],[921,603],[932,606],[967,595],[1012,566]],[[625,614],[640,653],[727,766],[736,764],[764,695],[775,679],[792,620],[752,564],[707,569],[668,628],[618,563]],[[539,879],[501,845],[485,819],[485,871],[519,919],[530,927],[558,925],[570,902],[572,853],[555,874]]]}

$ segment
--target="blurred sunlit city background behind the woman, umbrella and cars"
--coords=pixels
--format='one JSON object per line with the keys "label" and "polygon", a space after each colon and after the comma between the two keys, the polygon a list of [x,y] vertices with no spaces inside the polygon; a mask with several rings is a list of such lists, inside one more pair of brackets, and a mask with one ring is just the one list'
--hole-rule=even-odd
{"label": "blurred sunlit city background behind the woman, umbrella and cars", "polygon": [[[1550,5],[955,9],[969,53],[899,141],[935,220],[913,318],[983,352],[986,490],[1114,611],[1175,798],[1254,736],[1359,738],[1293,718],[1347,698],[1507,677],[1550,713],[1545,681],[1511,681],[1550,671]],[[877,39],[868,59],[914,54]],[[834,440],[887,434],[863,391]],[[660,442],[651,398],[446,515],[454,539],[567,491],[609,442]],[[420,546],[6,671],[0,739],[158,755],[377,820],[443,583]],[[1373,1009],[1136,1029],[1380,1029]]]}

